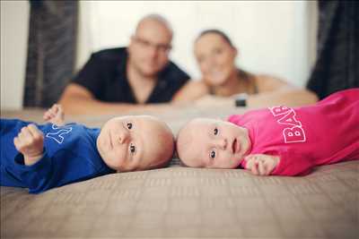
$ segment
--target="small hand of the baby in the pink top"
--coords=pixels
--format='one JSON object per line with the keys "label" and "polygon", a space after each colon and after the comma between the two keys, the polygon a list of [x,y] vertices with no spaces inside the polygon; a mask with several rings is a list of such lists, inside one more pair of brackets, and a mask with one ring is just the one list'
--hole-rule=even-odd
{"label": "small hand of the baby in the pink top", "polygon": [[253,175],[269,175],[276,168],[279,157],[266,154],[251,154],[244,158],[246,168]]}

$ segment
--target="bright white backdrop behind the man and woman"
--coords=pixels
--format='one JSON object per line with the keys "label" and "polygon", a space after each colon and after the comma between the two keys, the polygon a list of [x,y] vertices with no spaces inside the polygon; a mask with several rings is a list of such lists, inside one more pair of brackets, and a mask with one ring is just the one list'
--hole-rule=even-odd
{"label": "bright white backdrop behind the man and woman", "polygon": [[137,21],[145,14],[160,13],[175,32],[171,59],[193,78],[200,76],[194,39],[201,30],[219,28],[239,48],[238,65],[303,86],[315,57],[311,52],[315,5],[306,1],[83,1],[76,68],[93,51],[126,46]]}

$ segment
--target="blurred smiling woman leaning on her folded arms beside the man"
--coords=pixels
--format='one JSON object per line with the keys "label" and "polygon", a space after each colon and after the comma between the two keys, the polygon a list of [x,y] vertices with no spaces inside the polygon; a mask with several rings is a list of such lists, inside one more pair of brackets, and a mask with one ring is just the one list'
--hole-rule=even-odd
{"label": "blurred smiling woman leaning on her folded arms beside the man", "polygon": [[197,100],[198,105],[234,105],[238,94],[246,93],[250,97],[243,106],[250,107],[298,106],[317,101],[309,90],[296,89],[271,75],[242,70],[236,66],[238,55],[238,49],[223,31],[202,31],[195,41],[195,56],[202,79],[189,81],[176,94],[175,100]]}

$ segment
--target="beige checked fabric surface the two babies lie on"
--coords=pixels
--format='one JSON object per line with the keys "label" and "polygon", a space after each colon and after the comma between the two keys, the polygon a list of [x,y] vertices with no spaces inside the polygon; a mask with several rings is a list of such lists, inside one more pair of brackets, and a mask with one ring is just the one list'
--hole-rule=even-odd
{"label": "beige checked fabric surface the two babies lie on", "polygon": [[[39,122],[41,111],[33,112],[22,116]],[[186,112],[158,115],[174,132],[192,116],[213,115]],[[91,126],[103,120],[80,119]],[[39,195],[1,187],[1,238],[358,238],[359,161],[321,166],[304,177],[177,162]]]}

